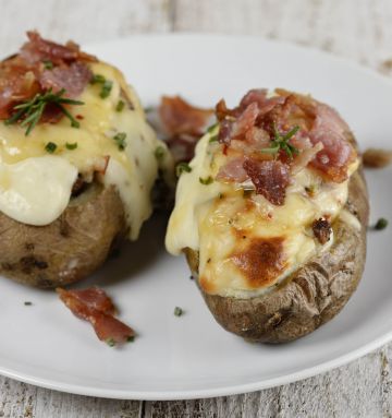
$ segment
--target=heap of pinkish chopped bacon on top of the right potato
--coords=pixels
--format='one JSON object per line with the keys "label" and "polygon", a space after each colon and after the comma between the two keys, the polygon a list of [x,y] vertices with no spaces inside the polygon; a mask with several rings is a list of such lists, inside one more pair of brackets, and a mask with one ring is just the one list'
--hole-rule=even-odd
{"label": "heap of pinkish chopped bacon on top of the right potato", "polygon": [[[249,91],[234,109],[229,109],[224,100],[218,103],[219,142],[224,145],[224,154],[230,158],[228,148],[233,148],[240,151],[245,160],[253,158],[255,153],[258,153],[257,160],[271,159],[271,154],[259,152],[270,147],[274,127],[284,133],[298,126],[299,131],[290,139],[290,144],[299,153],[292,159],[284,151],[280,151],[278,159],[291,166],[292,175],[310,166],[329,181],[346,180],[348,166],[355,160],[356,152],[345,136],[348,127],[339,114],[309,96],[283,89],[275,92],[277,96],[267,97],[266,89]],[[250,166],[248,170],[255,171]],[[229,160],[217,178],[232,181],[236,177],[235,172],[240,171]],[[238,178],[243,179],[242,174]]]}

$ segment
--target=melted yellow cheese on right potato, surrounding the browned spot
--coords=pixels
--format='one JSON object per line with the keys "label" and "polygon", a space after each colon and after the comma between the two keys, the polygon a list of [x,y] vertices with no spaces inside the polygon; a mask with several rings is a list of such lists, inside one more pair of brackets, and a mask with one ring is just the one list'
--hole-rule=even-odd
{"label": "melted yellow cheese on right potato, surrounding the browned spot", "polygon": [[[310,169],[303,169],[286,189],[285,203],[275,206],[261,195],[244,198],[234,184],[213,181],[201,184],[199,178],[216,177],[221,159],[220,145],[210,143],[207,133],[197,144],[192,171],[183,172],[177,184],[166,244],[180,254],[185,248],[199,251],[200,285],[209,294],[253,297],[270,291],[271,284],[255,286],[233,263],[233,253],[246,251],[249,240],[283,237],[284,268],[272,285],[303,265],[310,256],[333,242],[321,246],[311,224],[323,216],[336,218],[347,200],[347,181],[326,183]],[[355,163],[350,168],[357,168]],[[316,187],[313,198],[305,188]]]}

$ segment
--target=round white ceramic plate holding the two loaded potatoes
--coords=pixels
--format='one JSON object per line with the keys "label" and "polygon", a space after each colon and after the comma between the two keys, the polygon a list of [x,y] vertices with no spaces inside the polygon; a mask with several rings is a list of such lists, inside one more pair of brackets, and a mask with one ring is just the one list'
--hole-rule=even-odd
{"label": "round white ceramic plate holding the two loaded potatoes", "polygon": [[[392,84],[311,49],[254,37],[134,37],[87,48],[123,70],[145,105],[181,93],[210,106],[234,105],[252,87],[282,86],[336,107],[363,148],[388,147]],[[392,220],[391,169],[367,172],[371,219]],[[163,218],[83,286],[108,290],[134,344],[98,342],[52,291],[1,279],[0,373],[60,391],[137,399],[174,399],[256,391],[341,366],[392,339],[392,227],[369,232],[360,286],[343,312],[311,335],[282,346],[253,345],[223,331],[208,312],[182,258],[164,252]],[[24,301],[33,306],[24,306]],[[175,306],[186,313],[173,315]]]}

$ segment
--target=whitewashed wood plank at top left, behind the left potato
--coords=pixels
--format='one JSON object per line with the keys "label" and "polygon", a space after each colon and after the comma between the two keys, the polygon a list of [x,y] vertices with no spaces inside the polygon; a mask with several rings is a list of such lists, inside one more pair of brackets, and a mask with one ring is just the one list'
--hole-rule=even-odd
{"label": "whitewashed wood plank at top left, behind the left potato", "polygon": [[15,51],[27,29],[79,44],[167,32],[171,28],[170,0],[13,0],[1,2],[0,56]]}

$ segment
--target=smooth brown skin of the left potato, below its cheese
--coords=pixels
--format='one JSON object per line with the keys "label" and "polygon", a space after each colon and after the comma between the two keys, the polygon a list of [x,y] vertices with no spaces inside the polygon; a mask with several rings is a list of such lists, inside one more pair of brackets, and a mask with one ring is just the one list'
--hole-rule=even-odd
{"label": "smooth brown skin of the left potato, below its cheese", "polygon": [[0,213],[0,274],[40,288],[70,285],[99,267],[125,232],[119,193],[97,182],[46,226]]}

